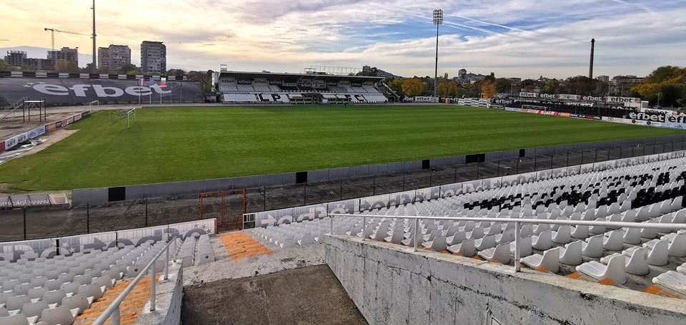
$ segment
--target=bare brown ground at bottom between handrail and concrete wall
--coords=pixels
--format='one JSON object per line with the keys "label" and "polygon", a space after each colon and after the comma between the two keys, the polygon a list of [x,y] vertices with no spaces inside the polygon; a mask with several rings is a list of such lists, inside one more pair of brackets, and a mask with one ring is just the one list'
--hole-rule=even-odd
{"label": "bare brown ground at bottom between handrail and concrete wall", "polygon": [[184,287],[182,324],[367,324],[326,264]]}

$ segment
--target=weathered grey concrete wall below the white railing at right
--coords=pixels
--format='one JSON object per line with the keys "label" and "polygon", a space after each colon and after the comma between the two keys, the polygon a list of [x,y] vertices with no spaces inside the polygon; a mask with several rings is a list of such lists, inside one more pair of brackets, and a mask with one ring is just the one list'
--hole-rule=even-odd
{"label": "weathered grey concrete wall below the white railing at right", "polygon": [[325,236],[327,264],[369,324],[685,324],[680,299],[438,252]]}

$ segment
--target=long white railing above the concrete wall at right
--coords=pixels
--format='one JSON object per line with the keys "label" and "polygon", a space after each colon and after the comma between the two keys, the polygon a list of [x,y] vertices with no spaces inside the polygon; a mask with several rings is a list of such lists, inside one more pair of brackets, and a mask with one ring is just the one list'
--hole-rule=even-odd
{"label": "long white railing above the concrete wall at right", "polygon": [[414,219],[414,252],[417,252],[417,232],[419,220],[451,220],[451,221],[486,221],[486,222],[515,222],[515,272],[520,272],[520,224],[549,224],[549,225],[570,225],[570,226],[599,226],[617,228],[649,228],[663,230],[682,230],[686,229],[686,224],[677,223],[649,223],[649,222],[615,222],[615,221],[595,221],[595,220],[547,220],[547,219],[519,219],[519,218],[482,218],[482,217],[422,217],[422,216],[400,216],[400,215],[349,215],[349,214],[329,214],[330,225],[329,234],[334,233],[334,217],[362,217],[362,240],[366,240],[367,218],[385,219]]}

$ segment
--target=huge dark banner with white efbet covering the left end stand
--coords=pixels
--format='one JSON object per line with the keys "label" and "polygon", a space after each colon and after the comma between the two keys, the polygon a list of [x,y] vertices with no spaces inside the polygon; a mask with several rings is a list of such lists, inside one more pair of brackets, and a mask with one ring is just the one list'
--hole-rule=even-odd
{"label": "huge dark banner with white efbet covering the left end stand", "polygon": [[0,95],[10,102],[27,97],[45,100],[46,105],[90,103],[202,102],[202,84],[170,81],[168,87],[140,86],[137,80],[89,78],[0,78]]}

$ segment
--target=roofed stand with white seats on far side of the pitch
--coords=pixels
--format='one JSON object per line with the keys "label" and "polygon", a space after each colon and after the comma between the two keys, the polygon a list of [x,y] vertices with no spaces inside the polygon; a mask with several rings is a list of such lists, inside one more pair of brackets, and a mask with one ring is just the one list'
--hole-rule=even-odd
{"label": "roofed stand with white seats on far side of the pitch", "polygon": [[214,82],[224,103],[387,103],[383,78],[222,71]]}

